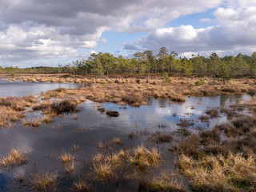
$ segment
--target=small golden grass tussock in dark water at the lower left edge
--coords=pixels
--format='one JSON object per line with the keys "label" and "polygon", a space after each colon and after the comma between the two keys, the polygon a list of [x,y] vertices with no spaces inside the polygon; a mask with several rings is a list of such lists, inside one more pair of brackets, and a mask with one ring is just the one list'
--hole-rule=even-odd
{"label": "small golden grass tussock in dark water at the lower left edge", "polygon": [[28,158],[25,152],[12,149],[10,150],[10,154],[0,160],[0,167],[10,168],[12,166],[22,166],[26,162],[28,162]]}

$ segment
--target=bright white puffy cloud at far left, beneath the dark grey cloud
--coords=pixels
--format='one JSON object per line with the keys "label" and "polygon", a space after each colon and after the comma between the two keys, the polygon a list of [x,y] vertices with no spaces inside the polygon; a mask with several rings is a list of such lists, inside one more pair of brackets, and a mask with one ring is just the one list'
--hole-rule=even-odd
{"label": "bright white puffy cloud at far left, beneath the dark grey cloud", "polygon": [[45,26],[29,29],[10,26],[5,32],[0,31],[0,55],[5,55],[5,58],[30,59],[35,55],[43,58],[69,57],[77,50],[68,44],[53,28]]}

